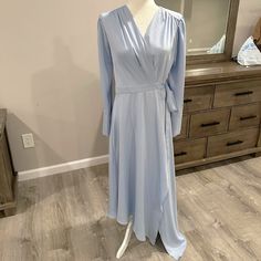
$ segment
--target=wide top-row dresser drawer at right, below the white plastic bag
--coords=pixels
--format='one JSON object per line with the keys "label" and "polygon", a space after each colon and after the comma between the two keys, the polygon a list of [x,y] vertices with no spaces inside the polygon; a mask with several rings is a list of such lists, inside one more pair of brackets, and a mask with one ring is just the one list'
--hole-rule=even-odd
{"label": "wide top-row dresser drawer at right, below the white plastic bag", "polygon": [[261,80],[218,84],[213,106],[223,107],[261,101]]}

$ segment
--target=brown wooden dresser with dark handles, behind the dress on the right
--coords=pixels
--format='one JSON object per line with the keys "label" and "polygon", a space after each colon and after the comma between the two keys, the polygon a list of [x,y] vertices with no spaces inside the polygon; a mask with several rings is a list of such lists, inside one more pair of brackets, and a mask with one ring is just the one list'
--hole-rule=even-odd
{"label": "brown wooden dresser with dark handles, behind the dress on the right", "polygon": [[261,152],[261,66],[188,65],[176,169]]}

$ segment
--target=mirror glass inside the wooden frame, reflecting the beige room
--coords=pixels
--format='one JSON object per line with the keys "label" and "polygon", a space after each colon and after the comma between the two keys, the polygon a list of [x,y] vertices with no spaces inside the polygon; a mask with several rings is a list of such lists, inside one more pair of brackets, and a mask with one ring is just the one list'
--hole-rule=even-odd
{"label": "mirror glass inside the wooden frame, reflecting the beige room", "polygon": [[187,55],[223,53],[230,0],[158,0],[157,4],[182,13]]}

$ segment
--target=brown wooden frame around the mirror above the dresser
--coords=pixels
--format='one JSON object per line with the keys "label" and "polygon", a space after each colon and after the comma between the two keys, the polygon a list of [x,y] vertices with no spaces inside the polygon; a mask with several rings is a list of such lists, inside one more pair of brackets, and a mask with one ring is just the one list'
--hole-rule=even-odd
{"label": "brown wooden frame around the mirror above the dresser", "polygon": [[186,55],[187,65],[200,64],[200,63],[225,62],[225,61],[231,60],[237,18],[238,18],[239,1],[240,0],[230,0],[223,53]]}

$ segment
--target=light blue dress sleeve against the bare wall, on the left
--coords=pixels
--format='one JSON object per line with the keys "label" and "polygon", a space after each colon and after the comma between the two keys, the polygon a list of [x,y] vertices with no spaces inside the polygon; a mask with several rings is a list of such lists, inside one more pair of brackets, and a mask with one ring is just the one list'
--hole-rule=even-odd
{"label": "light blue dress sleeve against the bare wall, on the left", "polygon": [[100,63],[100,86],[103,96],[103,129],[102,134],[109,136],[113,104],[113,61],[107,35],[101,15],[97,19],[97,48]]}

